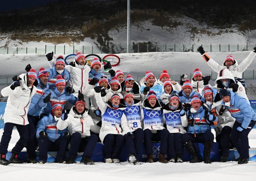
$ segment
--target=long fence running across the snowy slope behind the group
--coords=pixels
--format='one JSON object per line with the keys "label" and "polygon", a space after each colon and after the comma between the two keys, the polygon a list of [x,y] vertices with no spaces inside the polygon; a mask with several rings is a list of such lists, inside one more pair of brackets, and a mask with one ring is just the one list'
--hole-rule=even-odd
{"label": "long fence running across the snowy slope behind the group", "polygon": [[[196,52],[197,47],[203,46],[207,52],[232,52],[252,50],[256,45],[168,45],[168,44],[132,44],[129,45],[130,53],[145,52]],[[44,46],[44,47],[7,47],[0,48],[0,54],[46,54],[54,51],[54,54],[120,54],[127,53],[127,45],[111,44],[104,46]]]}

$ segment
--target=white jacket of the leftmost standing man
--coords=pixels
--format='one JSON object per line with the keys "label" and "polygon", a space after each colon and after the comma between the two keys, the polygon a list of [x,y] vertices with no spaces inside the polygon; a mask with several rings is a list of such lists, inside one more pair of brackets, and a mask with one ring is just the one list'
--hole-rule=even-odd
{"label": "white jacket of the leftmost standing man", "polygon": [[22,80],[20,80],[19,87],[12,90],[11,85],[9,85],[1,91],[4,97],[9,96],[4,110],[4,123],[28,124],[28,108],[36,93],[36,87],[33,85],[31,89],[28,88],[27,74],[21,74],[20,78]]}

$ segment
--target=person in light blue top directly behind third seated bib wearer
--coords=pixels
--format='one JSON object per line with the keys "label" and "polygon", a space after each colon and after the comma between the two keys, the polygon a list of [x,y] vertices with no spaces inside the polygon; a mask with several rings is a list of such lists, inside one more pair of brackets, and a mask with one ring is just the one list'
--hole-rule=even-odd
{"label": "person in light blue top directly behind third seated bib wearer", "polygon": [[141,93],[141,102],[145,100],[148,96],[149,91],[154,91],[158,101],[161,101],[161,92],[164,91],[164,87],[158,84],[156,77],[150,71],[147,71],[145,77],[140,80],[140,93]]}

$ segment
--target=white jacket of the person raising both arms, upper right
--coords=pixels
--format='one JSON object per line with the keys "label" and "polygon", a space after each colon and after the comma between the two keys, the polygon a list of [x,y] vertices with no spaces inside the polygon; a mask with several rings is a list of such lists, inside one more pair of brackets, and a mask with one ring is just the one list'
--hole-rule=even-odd
{"label": "white jacket of the person raising both arms, upper right", "polygon": [[[204,53],[202,56],[204,56],[206,53]],[[206,54],[207,55],[207,54]],[[229,71],[232,73],[232,75],[234,77],[238,77],[238,78],[242,78],[242,73],[247,69],[247,67],[249,67],[249,65],[252,63],[252,60],[254,59],[256,53],[254,53],[253,51],[251,51],[251,53],[243,60],[243,62],[241,62],[239,65],[238,63],[235,61],[234,65],[231,65],[229,67]],[[207,55],[208,56],[208,55]],[[208,56],[209,57],[209,56]],[[224,65],[224,62],[222,64],[222,66],[220,66],[217,62],[215,62],[212,58],[210,58],[210,60],[207,61],[207,64],[217,73],[219,73],[219,71],[221,69],[227,69],[227,67]]]}

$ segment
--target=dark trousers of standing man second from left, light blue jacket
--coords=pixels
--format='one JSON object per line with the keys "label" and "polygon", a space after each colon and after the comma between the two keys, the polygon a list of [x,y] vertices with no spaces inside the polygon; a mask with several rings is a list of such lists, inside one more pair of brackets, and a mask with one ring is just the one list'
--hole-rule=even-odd
{"label": "dark trousers of standing man second from left, light blue jacket", "polygon": [[27,158],[28,159],[35,159],[36,158],[36,125],[39,121],[39,116],[31,116],[28,115],[28,143],[27,143]]}

